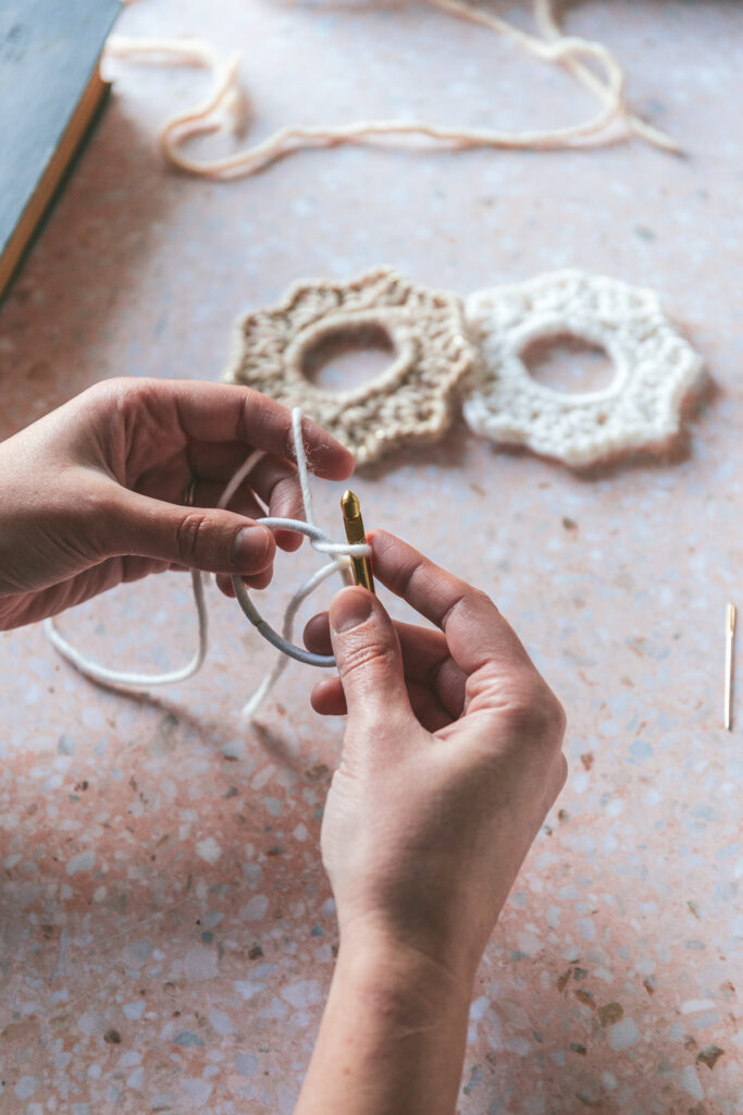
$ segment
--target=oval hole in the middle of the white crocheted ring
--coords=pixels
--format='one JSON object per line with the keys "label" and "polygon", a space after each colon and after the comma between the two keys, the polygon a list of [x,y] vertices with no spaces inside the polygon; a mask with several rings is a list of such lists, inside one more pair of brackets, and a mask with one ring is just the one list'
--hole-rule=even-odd
{"label": "oval hole in the middle of the white crocheted ring", "polygon": [[532,341],[521,359],[531,378],[550,391],[605,391],[616,377],[605,349],[567,333]]}

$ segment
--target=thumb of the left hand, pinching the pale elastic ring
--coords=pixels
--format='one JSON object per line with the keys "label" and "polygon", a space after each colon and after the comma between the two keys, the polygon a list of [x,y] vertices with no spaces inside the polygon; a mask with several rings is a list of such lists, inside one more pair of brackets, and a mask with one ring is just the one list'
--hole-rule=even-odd
{"label": "thumb of the left hand, pinching the pale elastic ring", "polygon": [[261,573],[273,562],[274,536],[252,518],[211,507],[179,507],[136,492],[121,495],[108,542],[113,553],[242,576]]}

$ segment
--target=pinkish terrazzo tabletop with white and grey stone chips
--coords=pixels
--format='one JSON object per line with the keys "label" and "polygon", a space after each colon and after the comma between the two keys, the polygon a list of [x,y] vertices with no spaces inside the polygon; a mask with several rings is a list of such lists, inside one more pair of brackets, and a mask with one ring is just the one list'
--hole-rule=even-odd
{"label": "pinkish terrazzo tabletop with white and grey stone chips", "polygon": [[[736,1115],[743,712],[730,734],[721,716],[724,607],[743,603],[743,16],[723,0],[565,14],[616,50],[633,104],[685,158],[637,142],[353,148],[206,183],[155,146],[198,75],[111,66],[100,126],[0,311],[0,433],[102,377],[218,378],[234,317],[306,275],[390,263],[465,295],[579,266],[659,290],[711,377],[664,457],[575,474],[457,423],[355,487],[369,525],[493,595],[569,718],[567,786],[478,976],[459,1111]],[[420,6],[141,0],[119,30],[243,49],[256,136],[590,108],[566,76]],[[578,366],[607,375],[569,348],[540,374],[575,387]],[[334,531],[336,486],[315,497]],[[313,568],[305,550],[282,556],[270,617]],[[2,1112],[293,1108],[336,947],[317,837],[342,725],[311,711],[314,675],[293,665],[242,726],[271,655],[209,595],[206,667],[157,696],[95,688],[38,627],[0,640]],[[60,627],[101,661],[175,666],[195,640],[187,579],[117,590]],[[743,695],[743,660],[739,676]]]}

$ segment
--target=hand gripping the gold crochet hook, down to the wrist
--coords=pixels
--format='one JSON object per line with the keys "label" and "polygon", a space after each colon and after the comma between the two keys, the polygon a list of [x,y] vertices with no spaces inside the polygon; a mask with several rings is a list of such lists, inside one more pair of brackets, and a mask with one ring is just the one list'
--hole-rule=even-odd
{"label": "hand gripping the gold crochet hook, down to the wrist", "polygon": [[471,981],[565,783],[565,717],[482,592],[390,534],[370,542],[375,576],[440,630],[393,624],[360,588],[305,630],[340,672],[313,707],[348,712],[322,826],[341,950],[392,946]]}

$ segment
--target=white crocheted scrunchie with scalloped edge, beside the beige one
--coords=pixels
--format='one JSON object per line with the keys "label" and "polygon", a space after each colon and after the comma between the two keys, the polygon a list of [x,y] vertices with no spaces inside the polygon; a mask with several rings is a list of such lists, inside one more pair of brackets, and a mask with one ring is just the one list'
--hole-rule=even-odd
{"label": "white crocheted scrunchie with scalloped edge, beside the beige one", "polygon": [[[658,445],[677,433],[682,401],[702,369],[655,291],[581,271],[477,291],[465,314],[481,353],[463,408],[471,429],[568,465]],[[565,334],[606,350],[616,371],[608,388],[568,395],[529,375],[525,349]]]}

